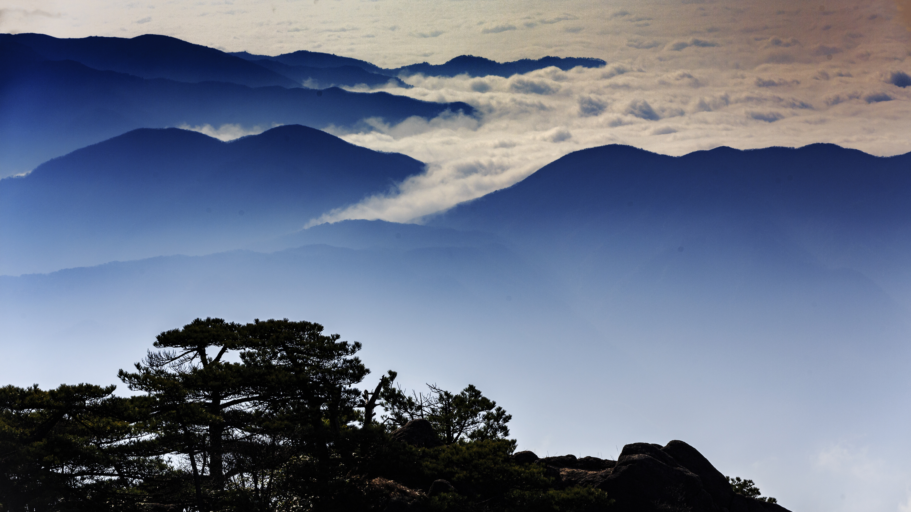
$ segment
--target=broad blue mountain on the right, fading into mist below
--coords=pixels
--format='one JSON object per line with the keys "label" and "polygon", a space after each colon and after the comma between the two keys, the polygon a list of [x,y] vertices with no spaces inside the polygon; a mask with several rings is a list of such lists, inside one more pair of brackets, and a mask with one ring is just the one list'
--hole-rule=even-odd
{"label": "broad blue mountain on the right, fading into mist below", "polygon": [[592,315],[599,301],[646,290],[745,299],[808,268],[853,270],[907,308],[909,193],[911,155],[814,145],[671,157],[601,146],[429,224],[501,236]]}

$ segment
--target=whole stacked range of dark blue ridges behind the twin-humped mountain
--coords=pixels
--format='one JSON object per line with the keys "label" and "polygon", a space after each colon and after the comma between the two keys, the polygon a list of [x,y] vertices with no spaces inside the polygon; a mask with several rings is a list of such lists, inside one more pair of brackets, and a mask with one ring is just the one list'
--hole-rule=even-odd
{"label": "whole stacked range of dark blue ridges behind the twin-humped mountain", "polygon": [[398,75],[505,76],[548,65],[568,69],[604,62],[544,57],[500,64],[463,55],[445,65],[384,70],[317,52],[228,54],[166,35],[63,39],[2,34],[0,177],[28,172],[49,158],[141,127],[302,124],[371,130],[363,119],[395,124],[447,111],[474,115],[464,103],[436,104],[336,87],[408,88]]}

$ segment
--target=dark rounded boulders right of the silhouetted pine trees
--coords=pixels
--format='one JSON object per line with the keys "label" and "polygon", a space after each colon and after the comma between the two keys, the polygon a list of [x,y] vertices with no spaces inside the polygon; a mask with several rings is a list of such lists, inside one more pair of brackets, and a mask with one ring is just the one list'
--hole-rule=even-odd
{"label": "dark rounded boulders right of the silhouetted pine trees", "polygon": [[[519,457],[521,456],[521,457]],[[538,459],[519,452],[516,462],[544,464],[558,487],[588,486],[615,500],[614,512],[788,512],[732,491],[722,473],[683,441],[667,446],[633,443],[616,461],[572,455]]]}

